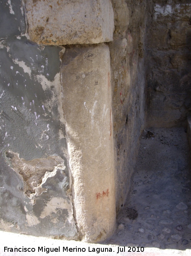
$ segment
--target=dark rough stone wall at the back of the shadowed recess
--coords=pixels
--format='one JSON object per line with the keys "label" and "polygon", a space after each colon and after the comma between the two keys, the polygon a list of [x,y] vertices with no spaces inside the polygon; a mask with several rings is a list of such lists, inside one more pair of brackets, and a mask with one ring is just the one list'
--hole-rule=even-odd
{"label": "dark rough stone wall at the back of the shadowed recess", "polygon": [[157,0],[149,4],[147,126],[186,125],[191,111],[191,3]]}

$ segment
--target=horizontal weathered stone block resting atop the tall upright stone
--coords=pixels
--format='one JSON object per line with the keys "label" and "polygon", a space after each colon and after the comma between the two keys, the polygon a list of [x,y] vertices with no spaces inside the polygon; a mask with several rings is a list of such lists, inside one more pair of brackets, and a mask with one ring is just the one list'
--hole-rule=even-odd
{"label": "horizontal weathered stone block resting atop the tall upright stone", "polygon": [[45,45],[95,44],[113,40],[110,0],[27,0],[32,41]]}

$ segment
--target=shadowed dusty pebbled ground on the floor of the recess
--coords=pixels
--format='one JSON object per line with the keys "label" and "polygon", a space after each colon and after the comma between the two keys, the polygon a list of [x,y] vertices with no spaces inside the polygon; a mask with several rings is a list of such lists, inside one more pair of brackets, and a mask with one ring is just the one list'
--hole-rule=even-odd
{"label": "shadowed dusty pebbled ground on the floor of the recess", "polygon": [[130,198],[117,221],[107,244],[191,248],[191,165],[185,129],[144,130]]}

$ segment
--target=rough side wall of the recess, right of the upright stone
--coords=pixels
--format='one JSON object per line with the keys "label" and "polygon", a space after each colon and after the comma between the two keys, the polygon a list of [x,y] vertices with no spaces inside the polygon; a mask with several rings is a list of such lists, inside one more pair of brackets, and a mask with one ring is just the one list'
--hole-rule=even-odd
{"label": "rough side wall of the recess, right of the upright stone", "polygon": [[146,1],[112,0],[115,31],[111,56],[116,206],[123,206],[144,127]]}

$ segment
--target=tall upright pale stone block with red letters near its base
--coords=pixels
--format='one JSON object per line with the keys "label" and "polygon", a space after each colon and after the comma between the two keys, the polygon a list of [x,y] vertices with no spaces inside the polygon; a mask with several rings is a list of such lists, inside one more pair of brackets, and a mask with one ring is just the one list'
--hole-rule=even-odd
{"label": "tall upright pale stone block with red letters near its base", "polygon": [[85,241],[115,228],[115,181],[108,46],[66,49],[61,66],[63,111],[73,176],[74,213]]}

